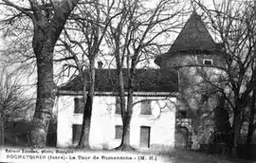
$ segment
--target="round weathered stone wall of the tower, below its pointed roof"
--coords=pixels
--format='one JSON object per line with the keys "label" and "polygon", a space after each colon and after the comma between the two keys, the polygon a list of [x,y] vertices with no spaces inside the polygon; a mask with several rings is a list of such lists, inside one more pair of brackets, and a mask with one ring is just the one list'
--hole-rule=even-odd
{"label": "round weathered stone wall of the tower, below its pointed roof", "polygon": [[[205,64],[205,60],[211,64]],[[219,82],[219,78],[225,76],[222,70],[225,61],[215,54],[176,54],[162,61],[161,68],[179,72],[178,110],[187,111],[192,118],[192,148],[197,149],[198,144],[208,143],[213,130],[214,121],[207,118],[214,119],[213,110],[219,105],[220,96],[210,82]],[[214,84],[222,86],[223,83]]]}

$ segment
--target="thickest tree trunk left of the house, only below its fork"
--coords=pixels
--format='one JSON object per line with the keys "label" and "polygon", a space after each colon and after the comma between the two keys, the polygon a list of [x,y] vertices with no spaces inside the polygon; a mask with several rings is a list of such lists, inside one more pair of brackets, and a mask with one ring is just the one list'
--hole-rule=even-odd
{"label": "thickest tree trunk left of the house, only below its fork", "polygon": [[29,140],[34,147],[46,146],[48,124],[55,100],[53,82],[53,47],[51,41],[42,43],[37,56],[37,100],[35,114],[30,126]]}

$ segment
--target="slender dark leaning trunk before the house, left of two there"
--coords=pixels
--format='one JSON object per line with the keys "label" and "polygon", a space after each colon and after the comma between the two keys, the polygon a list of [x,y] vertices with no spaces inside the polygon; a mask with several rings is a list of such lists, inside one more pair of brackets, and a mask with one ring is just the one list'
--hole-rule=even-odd
{"label": "slender dark leaning trunk before the house, left of two there", "polygon": [[[90,72],[89,72],[89,90],[86,98],[86,103],[83,111],[82,118],[82,134],[78,144],[78,148],[89,149],[89,136],[90,136],[90,126],[92,117],[92,104],[94,98],[94,87],[95,87],[95,61],[94,59],[90,62]],[[84,92],[85,91],[85,92]],[[83,88],[83,95],[86,94],[86,88]]]}

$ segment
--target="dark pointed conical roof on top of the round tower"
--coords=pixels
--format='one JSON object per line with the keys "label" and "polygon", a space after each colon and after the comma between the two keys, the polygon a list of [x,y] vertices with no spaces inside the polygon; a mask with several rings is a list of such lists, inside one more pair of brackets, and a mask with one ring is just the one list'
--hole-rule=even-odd
{"label": "dark pointed conical roof on top of the round tower", "polygon": [[184,50],[217,50],[218,45],[213,41],[210,32],[201,17],[193,11],[191,17],[182,28],[169,52]]}

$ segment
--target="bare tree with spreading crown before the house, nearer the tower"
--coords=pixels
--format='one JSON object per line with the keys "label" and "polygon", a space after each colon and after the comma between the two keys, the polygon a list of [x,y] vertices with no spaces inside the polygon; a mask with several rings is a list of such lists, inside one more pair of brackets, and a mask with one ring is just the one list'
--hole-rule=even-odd
{"label": "bare tree with spreading crown before the house, nearer the tower", "polygon": [[[174,22],[179,14],[182,14],[183,8],[174,1],[161,0],[152,9],[146,8],[145,3],[137,0],[119,1],[121,14],[111,23],[106,41],[115,57],[119,79],[118,94],[123,122],[122,140],[118,148],[120,150],[133,149],[130,146],[130,121],[133,114],[137,65],[154,58],[155,54],[166,46],[166,43],[163,44],[164,36],[178,27],[179,24]],[[161,42],[159,38],[162,39]],[[127,78],[123,78],[124,75]],[[127,88],[124,87],[124,83],[127,83]],[[127,92],[127,105],[125,92]]]}

